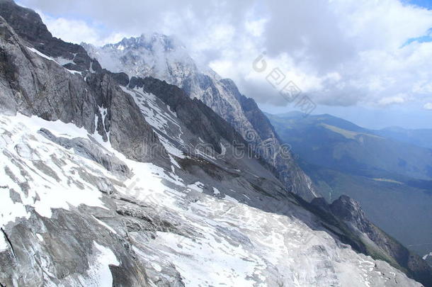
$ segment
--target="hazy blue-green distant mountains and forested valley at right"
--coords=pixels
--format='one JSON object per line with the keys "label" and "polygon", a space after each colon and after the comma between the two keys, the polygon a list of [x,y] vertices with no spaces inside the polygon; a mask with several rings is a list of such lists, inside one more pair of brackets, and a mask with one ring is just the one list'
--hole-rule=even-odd
{"label": "hazy blue-green distant mountains and forested valley at right", "polygon": [[422,256],[432,251],[432,130],[368,130],[299,112],[266,116],[327,201],[351,196],[397,240]]}

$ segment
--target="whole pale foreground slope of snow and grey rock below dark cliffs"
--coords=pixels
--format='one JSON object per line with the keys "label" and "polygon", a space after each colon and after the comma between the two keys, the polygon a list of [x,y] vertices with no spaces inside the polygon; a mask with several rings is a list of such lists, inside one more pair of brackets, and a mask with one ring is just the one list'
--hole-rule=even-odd
{"label": "whole pale foreground slope of snow and grey rock below dark cliffs", "polygon": [[[421,286],[312,230],[294,203],[296,216],[266,213],[59,121],[0,116],[0,131],[6,286]],[[76,137],[130,176],[52,142]]]}

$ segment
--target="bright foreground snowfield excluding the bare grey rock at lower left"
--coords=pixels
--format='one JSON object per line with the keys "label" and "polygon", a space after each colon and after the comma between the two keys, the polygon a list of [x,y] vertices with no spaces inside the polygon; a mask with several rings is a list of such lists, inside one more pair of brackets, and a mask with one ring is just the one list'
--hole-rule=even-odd
{"label": "bright foreground snowfield excluding the bare grey rock at lower left", "polygon": [[[33,213],[42,218],[52,218],[55,210],[79,215],[77,208],[82,206],[98,213],[123,210],[130,220],[132,214],[159,220],[155,232],[126,228],[119,215],[106,221],[95,213],[87,220],[91,228],[106,232],[107,238],[127,235],[137,261],[146,269],[148,278],[142,286],[159,286],[162,281],[193,287],[421,286],[389,264],[353,252],[298,218],[266,213],[229,196],[221,197],[224,190],[220,187],[207,186],[214,196],[203,193],[206,184],[186,184],[175,171],[133,162],[104,143],[106,152],[123,160],[133,173],[130,178],[122,177],[48,140],[38,133],[40,128],[69,139],[91,138],[72,124],[0,116],[2,228],[29,220]],[[102,193],[95,179],[109,181],[115,191]],[[35,249],[48,248],[44,244],[49,237],[46,232],[35,235],[39,239]],[[9,249],[0,236],[0,254]],[[112,268],[125,264],[121,249],[111,249],[95,238],[89,250],[91,256],[82,258],[88,261],[86,274],[70,274],[63,281],[52,279],[55,263],[49,255],[42,256],[46,264],[40,268],[47,274],[46,285],[112,286]]]}

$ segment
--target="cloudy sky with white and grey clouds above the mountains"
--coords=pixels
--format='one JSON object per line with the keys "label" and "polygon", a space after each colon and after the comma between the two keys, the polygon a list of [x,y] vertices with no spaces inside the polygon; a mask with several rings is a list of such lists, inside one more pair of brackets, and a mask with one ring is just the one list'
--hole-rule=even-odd
{"label": "cloudy sky with white and grey clouds above the mountains", "polygon": [[[53,35],[103,45],[176,35],[266,111],[294,109],[278,69],[319,106],[370,128],[432,128],[432,0],[18,0]],[[253,69],[265,53],[265,72]]]}

